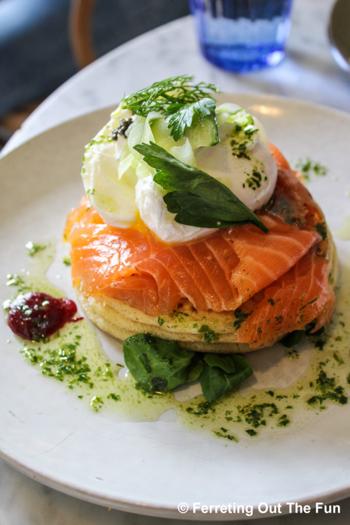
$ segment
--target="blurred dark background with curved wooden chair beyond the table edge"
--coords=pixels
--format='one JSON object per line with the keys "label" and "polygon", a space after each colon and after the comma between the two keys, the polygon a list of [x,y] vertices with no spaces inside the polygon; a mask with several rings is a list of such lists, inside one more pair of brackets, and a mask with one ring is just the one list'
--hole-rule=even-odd
{"label": "blurred dark background with curved wooden chair beyond the table edge", "polygon": [[0,147],[94,58],[188,13],[187,0],[0,0]]}

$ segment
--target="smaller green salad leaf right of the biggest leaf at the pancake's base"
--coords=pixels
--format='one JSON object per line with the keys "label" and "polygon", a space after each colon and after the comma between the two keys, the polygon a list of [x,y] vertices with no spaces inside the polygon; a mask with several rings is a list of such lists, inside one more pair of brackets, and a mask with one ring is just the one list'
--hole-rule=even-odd
{"label": "smaller green salad leaf right of the biggest leaf at the pancake's base", "polygon": [[252,367],[242,355],[232,354],[231,358],[235,362],[234,373],[227,373],[219,366],[210,366],[206,361],[204,363],[200,386],[209,403],[219,400],[253,373]]}

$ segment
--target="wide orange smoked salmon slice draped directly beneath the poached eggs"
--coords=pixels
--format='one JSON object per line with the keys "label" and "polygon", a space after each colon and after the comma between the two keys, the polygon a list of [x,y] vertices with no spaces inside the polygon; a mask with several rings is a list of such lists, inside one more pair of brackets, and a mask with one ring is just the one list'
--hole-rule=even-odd
{"label": "wide orange smoked salmon slice draped directly beneath the poached eggs", "polygon": [[73,285],[84,295],[119,299],[149,316],[172,313],[183,300],[196,310],[236,310],[299,268],[298,262],[323,242],[316,227],[324,224],[320,208],[285,168],[259,218],[267,234],[245,225],[169,245],[144,225],[124,229],[103,223],[84,198],[65,228]]}

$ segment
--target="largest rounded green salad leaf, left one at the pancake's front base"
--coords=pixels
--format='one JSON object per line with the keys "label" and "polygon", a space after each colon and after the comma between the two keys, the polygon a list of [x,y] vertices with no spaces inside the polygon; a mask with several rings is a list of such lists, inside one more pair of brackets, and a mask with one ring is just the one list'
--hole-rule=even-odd
{"label": "largest rounded green salad leaf, left one at the pancake's front base", "polygon": [[125,364],[137,384],[147,392],[168,392],[185,383],[195,356],[195,352],[181,348],[176,341],[149,333],[125,339],[123,353]]}

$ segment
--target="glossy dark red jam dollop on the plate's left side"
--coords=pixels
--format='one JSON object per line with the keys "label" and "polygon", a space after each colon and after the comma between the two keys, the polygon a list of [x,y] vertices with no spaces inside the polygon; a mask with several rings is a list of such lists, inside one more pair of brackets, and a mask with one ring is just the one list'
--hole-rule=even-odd
{"label": "glossy dark red jam dollop on the plate's left side", "polygon": [[57,299],[46,293],[34,292],[19,295],[11,304],[7,323],[22,339],[41,341],[57,332],[75,318],[77,306],[70,299]]}

